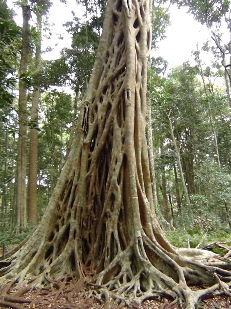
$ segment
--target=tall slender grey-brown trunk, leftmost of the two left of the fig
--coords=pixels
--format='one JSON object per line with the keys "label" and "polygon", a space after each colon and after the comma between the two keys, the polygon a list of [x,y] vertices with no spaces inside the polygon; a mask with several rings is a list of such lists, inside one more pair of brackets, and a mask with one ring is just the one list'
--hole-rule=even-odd
{"label": "tall slender grey-brown trunk, leftmost of the two left of the fig", "polygon": [[26,209],[26,152],[27,152],[27,94],[24,74],[27,72],[29,56],[30,7],[22,5],[22,51],[19,68],[19,142],[17,159],[17,232],[27,227]]}

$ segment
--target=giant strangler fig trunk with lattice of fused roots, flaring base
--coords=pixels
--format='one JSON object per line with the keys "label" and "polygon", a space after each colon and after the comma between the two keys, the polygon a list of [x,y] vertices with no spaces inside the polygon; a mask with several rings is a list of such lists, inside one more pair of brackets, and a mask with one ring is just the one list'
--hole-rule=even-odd
{"label": "giant strangler fig trunk with lattice of fused roots, flaring base", "polygon": [[106,302],[169,297],[190,309],[219,285],[193,291],[187,282],[212,284],[213,272],[231,275],[212,260],[202,265],[192,258],[213,253],[171,246],[155,218],[145,138],[150,6],[108,1],[67,161],[33,236],[0,263],[1,282],[17,276],[19,286],[56,285],[64,293],[62,280],[72,279],[72,295],[85,283]]}

